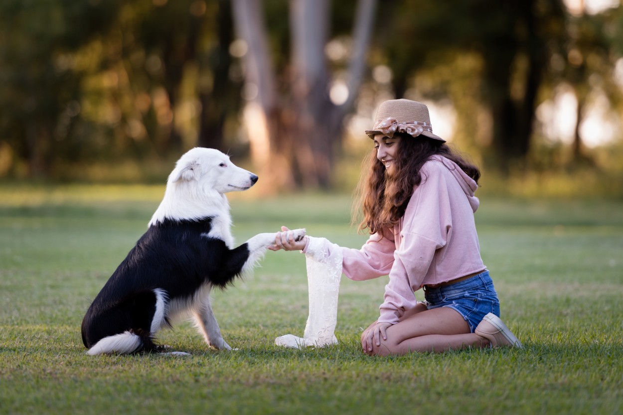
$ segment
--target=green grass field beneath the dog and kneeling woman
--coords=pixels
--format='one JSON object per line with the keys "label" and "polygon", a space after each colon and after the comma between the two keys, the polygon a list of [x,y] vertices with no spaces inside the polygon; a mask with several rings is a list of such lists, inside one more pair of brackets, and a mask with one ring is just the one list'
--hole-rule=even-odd
{"label": "green grass field beneath the dog and kneeling woman", "polygon": [[[237,351],[206,348],[188,323],[159,336],[186,358],[85,355],[80,322],[158,204],[160,186],[0,186],[1,414],[621,414],[623,203],[482,200],[478,233],[523,350],[369,357],[358,338],[384,278],[344,278],[336,335],[302,335],[305,259],[269,252],[254,277],[213,303]],[[242,195],[241,195],[242,196]],[[344,246],[350,198],[232,198],[242,242],[285,224]],[[422,298],[422,293],[417,296]]]}

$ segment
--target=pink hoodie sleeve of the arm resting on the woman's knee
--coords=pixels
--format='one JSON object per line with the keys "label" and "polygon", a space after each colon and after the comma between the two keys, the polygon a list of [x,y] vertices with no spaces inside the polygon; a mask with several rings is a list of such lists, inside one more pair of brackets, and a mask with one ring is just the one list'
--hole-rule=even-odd
{"label": "pink hoodie sleeve of the arm resting on the woman's knee", "polygon": [[416,305],[414,292],[452,233],[449,193],[441,163],[422,168],[422,183],[414,190],[403,217],[401,244],[394,252],[394,264],[385,287],[379,322],[395,324],[405,310]]}

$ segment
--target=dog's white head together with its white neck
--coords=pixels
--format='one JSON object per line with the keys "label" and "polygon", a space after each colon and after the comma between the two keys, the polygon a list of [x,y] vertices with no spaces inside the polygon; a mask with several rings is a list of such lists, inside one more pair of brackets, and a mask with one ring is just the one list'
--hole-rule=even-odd
{"label": "dog's white head together with its white neck", "polygon": [[225,193],[249,189],[257,176],[239,168],[229,156],[212,148],[193,148],[181,156],[169,174],[164,199],[150,226],[169,219],[207,216],[229,218]]}

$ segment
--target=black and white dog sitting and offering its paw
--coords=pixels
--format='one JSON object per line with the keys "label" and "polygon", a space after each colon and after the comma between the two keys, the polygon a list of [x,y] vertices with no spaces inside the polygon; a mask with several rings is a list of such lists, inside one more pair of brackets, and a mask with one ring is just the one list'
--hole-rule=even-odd
{"label": "black and white dog sitting and offering its paw", "polygon": [[[147,231],[83,318],[89,355],[164,351],[155,334],[179,317],[194,318],[207,345],[231,350],[209,293],[249,273],[275,243],[275,233],[264,233],[234,248],[225,194],[247,190],[257,179],[211,148],[193,148],[178,160]],[[304,235],[305,229],[293,231],[297,241]]]}

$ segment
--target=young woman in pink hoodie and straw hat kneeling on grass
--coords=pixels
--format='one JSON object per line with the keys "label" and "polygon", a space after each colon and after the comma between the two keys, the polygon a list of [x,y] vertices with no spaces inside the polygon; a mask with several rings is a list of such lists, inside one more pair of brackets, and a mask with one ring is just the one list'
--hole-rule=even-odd
{"label": "young woman in pink hoodie and straw hat kneeling on grass", "polygon": [[[369,355],[517,346],[498,317],[500,303],[480,257],[473,213],[480,171],[432,133],[426,105],[389,100],[379,107],[359,184],[363,221],[371,236],[361,249],[340,249],[353,280],[389,275],[378,320],[361,335]],[[306,252],[282,227],[275,250]],[[318,250],[317,247],[315,250]],[[426,302],[414,292],[424,289]]]}

